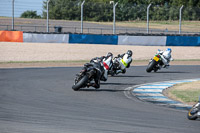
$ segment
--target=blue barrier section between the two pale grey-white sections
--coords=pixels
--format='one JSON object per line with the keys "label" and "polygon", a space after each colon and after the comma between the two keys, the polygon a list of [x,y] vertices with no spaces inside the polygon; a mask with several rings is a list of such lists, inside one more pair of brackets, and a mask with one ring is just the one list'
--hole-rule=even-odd
{"label": "blue barrier section between the two pale grey-white sections", "polygon": [[118,36],[117,35],[69,34],[69,43],[117,45]]}

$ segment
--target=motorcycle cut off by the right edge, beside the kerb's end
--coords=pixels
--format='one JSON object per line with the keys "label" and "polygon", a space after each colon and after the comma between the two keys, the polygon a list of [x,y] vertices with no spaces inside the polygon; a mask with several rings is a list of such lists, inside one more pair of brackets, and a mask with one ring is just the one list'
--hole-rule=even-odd
{"label": "motorcycle cut off by the right edge, beside the kerb's end", "polygon": [[193,107],[188,111],[187,118],[189,120],[196,120],[197,118],[200,118],[200,97],[199,102],[193,105]]}

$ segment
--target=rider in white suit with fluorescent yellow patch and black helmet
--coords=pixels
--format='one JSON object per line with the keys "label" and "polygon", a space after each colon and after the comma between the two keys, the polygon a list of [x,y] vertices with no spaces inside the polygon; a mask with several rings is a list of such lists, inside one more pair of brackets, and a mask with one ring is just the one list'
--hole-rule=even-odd
{"label": "rider in white suit with fluorescent yellow patch and black helmet", "polygon": [[[126,72],[126,68],[129,68],[130,64],[132,62],[132,54],[133,54],[133,52],[131,50],[128,50],[126,53],[118,55],[118,57],[121,58],[120,61],[119,61],[120,70],[117,70],[116,74],[125,73]],[[115,58],[115,60],[116,59],[117,58]],[[114,60],[114,62],[115,62],[115,60]]]}

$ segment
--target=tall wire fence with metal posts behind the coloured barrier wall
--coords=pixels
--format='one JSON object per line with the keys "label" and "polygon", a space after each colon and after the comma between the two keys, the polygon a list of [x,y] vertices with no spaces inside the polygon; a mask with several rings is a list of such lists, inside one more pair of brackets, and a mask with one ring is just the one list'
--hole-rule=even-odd
{"label": "tall wire fence with metal posts behind the coloured barrier wall", "polygon": [[[47,5],[43,0],[0,0],[0,16],[2,16],[0,17],[0,30],[132,34],[147,33],[148,28],[148,33],[155,34],[200,34],[199,8],[183,7],[180,12],[181,7],[151,5],[149,14],[147,14],[146,5],[122,5],[118,3],[116,14],[114,14],[113,7],[116,3],[85,2],[81,6],[82,1],[76,0],[71,2],[68,8],[63,9],[59,3],[50,2],[54,3],[49,4],[49,19],[47,19]],[[52,7],[53,5],[54,7]],[[83,14],[81,14],[81,7]],[[60,10],[55,14],[52,12],[52,8],[54,10],[60,8]],[[22,13],[28,10],[36,11],[41,19],[20,18]],[[114,15],[116,22],[114,22]],[[149,16],[149,22],[146,20],[147,16]],[[149,27],[147,27],[147,23]],[[114,30],[115,32],[113,32]]]}

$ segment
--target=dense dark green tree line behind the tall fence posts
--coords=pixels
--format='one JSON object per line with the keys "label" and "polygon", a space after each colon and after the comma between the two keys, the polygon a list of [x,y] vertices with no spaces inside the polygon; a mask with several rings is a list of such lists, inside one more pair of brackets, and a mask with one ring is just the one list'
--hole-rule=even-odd
{"label": "dense dark green tree line behind the tall fence posts", "polygon": [[[113,20],[113,4],[111,0],[85,0],[84,20]],[[178,20],[179,9],[183,5],[183,20],[200,20],[199,0],[113,0],[116,6],[117,21],[146,20],[147,6],[151,20]],[[50,0],[49,18],[62,20],[80,20],[83,0]],[[42,18],[46,18],[46,1],[43,2]],[[36,14],[37,15],[37,14]]]}

